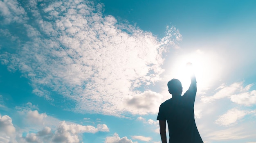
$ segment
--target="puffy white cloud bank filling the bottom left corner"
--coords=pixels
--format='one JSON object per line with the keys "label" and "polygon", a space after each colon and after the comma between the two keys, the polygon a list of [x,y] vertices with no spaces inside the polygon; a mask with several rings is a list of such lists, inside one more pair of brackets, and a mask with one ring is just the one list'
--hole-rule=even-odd
{"label": "puffy white cloud bank filling the bottom left corner", "polygon": [[[31,111],[31,108],[38,108],[30,102],[23,106],[16,106],[19,121],[22,124],[16,125],[18,130],[12,124],[12,119],[8,115],[0,116],[0,142],[9,143],[80,143],[83,133],[109,132],[106,124],[94,126],[83,126],[73,122],[59,121],[58,119],[47,116],[46,113],[38,113],[37,110]],[[99,119],[98,119],[99,120]],[[59,121],[59,123],[57,123]],[[43,127],[43,128],[42,128]],[[38,132],[36,132],[38,131]],[[25,134],[24,137],[24,133]]]}

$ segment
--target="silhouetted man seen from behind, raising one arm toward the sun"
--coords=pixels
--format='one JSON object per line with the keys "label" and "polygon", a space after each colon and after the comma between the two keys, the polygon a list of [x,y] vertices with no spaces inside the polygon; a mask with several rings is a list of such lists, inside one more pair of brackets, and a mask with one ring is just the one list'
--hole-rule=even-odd
{"label": "silhouetted man seen from behind, raising one arm toward the sun", "polygon": [[[191,66],[191,63],[187,63]],[[180,80],[172,79],[168,82],[168,91],[172,98],[166,100],[159,107],[159,120],[162,143],[166,140],[166,121],[169,130],[169,143],[203,143],[195,124],[194,103],[196,94],[195,75],[191,74],[191,84],[186,93],[181,96]]]}

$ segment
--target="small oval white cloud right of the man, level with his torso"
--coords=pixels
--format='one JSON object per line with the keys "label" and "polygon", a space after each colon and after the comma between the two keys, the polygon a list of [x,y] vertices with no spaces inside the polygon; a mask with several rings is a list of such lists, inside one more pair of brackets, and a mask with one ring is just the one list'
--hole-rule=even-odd
{"label": "small oval white cloud right of the man, level with his torso", "polygon": [[246,114],[246,111],[240,111],[233,108],[227,111],[224,115],[219,116],[215,123],[222,126],[230,126],[235,124],[239,119],[245,117]]}

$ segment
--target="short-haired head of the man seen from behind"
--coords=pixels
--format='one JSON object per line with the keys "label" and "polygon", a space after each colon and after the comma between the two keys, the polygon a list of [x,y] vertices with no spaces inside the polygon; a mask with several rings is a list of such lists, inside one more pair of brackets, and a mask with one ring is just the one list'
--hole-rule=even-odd
{"label": "short-haired head of the man seen from behind", "polygon": [[173,96],[180,96],[182,93],[182,85],[180,80],[173,78],[167,83],[168,91]]}

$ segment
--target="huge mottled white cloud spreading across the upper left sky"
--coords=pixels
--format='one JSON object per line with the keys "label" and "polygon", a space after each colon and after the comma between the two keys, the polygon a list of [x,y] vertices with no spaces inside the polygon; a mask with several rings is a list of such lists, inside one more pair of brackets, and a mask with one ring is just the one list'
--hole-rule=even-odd
{"label": "huge mottled white cloud spreading across the upper left sky", "polygon": [[[160,80],[163,52],[181,39],[175,27],[167,27],[166,36],[159,40],[138,27],[118,23],[111,15],[103,16],[101,4],[65,1],[38,6],[30,2],[30,9],[21,11],[20,4],[14,3],[20,9],[18,16],[29,12],[34,21],[20,25],[26,35],[17,40],[28,40],[16,47],[17,52],[0,57],[8,69],[19,69],[31,80],[36,95],[54,104],[58,97],[51,96],[47,91],[51,89],[74,102],[66,108],[81,113],[157,113],[160,102],[156,98],[161,97],[151,93],[157,101],[140,98],[146,93],[137,88]],[[10,12],[11,5],[1,6]],[[127,98],[129,106],[124,106]],[[153,104],[141,104],[140,99]]]}

